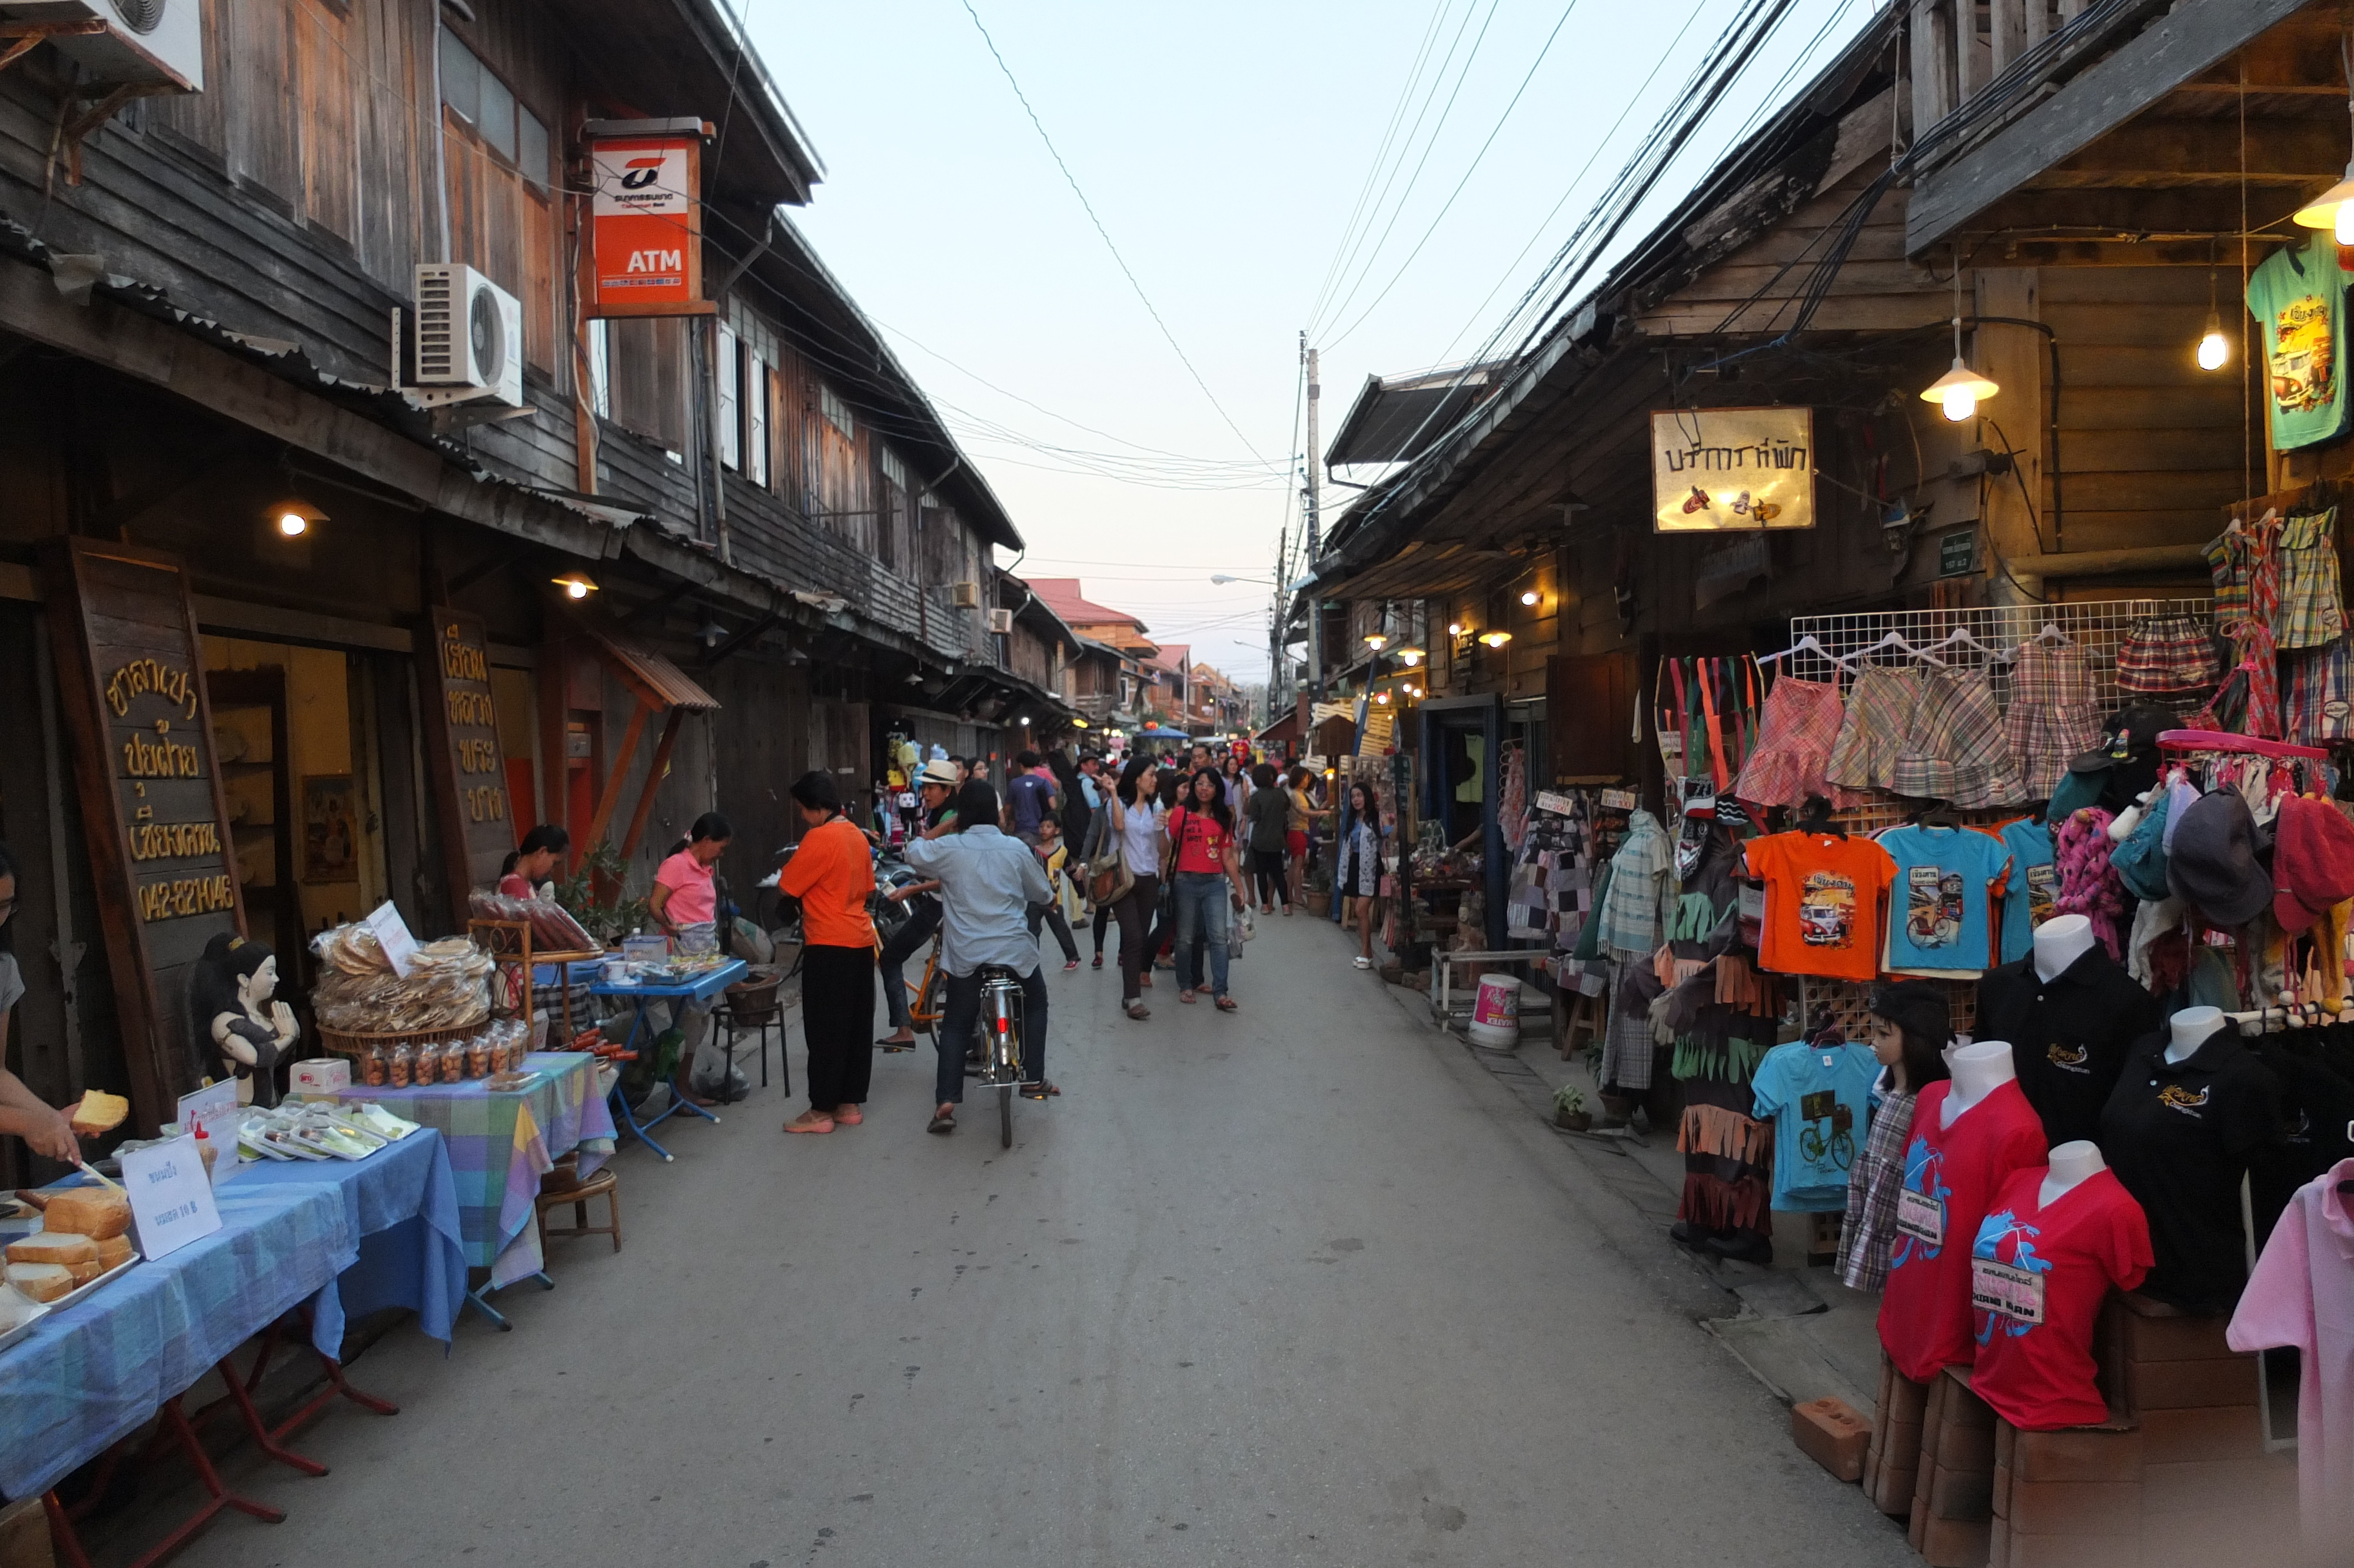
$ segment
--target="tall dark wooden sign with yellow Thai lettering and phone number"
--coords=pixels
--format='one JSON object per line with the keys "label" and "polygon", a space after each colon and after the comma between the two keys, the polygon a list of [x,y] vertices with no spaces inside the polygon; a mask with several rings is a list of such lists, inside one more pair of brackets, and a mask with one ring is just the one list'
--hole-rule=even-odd
{"label": "tall dark wooden sign with yellow Thai lettering and phone number", "polygon": [[54,539],[42,577],[132,1121],[153,1137],[210,1055],[188,1038],[188,970],[214,935],[245,935],[202,643],[172,556]]}

